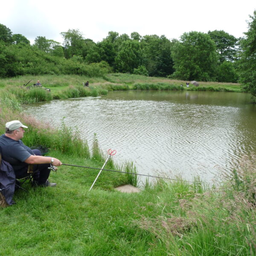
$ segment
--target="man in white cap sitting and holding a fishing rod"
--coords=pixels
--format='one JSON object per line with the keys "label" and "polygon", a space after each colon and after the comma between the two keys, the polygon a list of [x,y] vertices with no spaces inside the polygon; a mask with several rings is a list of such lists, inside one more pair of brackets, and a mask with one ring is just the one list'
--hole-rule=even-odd
{"label": "man in white cap sitting and holding a fishing rod", "polygon": [[61,161],[54,157],[43,157],[38,149],[30,149],[20,140],[28,128],[20,121],[14,120],[6,123],[6,133],[0,136],[0,149],[2,159],[9,162],[15,172],[16,178],[21,179],[28,176],[28,166],[33,164],[35,172],[33,180],[38,186],[56,186],[50,183],[48,167],[61,166]]}

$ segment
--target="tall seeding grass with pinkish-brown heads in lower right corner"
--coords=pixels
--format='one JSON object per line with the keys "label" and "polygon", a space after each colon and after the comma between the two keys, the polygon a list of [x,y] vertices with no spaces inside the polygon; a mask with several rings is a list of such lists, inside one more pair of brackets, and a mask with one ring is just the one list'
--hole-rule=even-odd
{"label": "tall seeding grass with pinkish-brown heads in lower right corner", "polygon": [[146,191],[153,195],[156,189],[158,199],[132,222],[154,237],[155,245],[164,245],[164,255],[256,255],[256,213],[244,195],[233,191],[234,198],[227,197],[230,187],[198,192],[198,181],[161,180]]}

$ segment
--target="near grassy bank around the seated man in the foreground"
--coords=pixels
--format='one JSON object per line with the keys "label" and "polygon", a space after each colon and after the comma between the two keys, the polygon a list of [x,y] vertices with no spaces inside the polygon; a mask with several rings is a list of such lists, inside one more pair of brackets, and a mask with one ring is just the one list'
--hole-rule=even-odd
{"label": "near grassy bank around the seated man in the foreground", "polygon": [[[0,102],[2,133],[7,121],[20,119],[29,127],[26,145],[46,145],[63,163],[102,166],[96,138],[90,150],[79,130],[63,122],[56,131],[9,96]],[[98,170],[61,166],[50,175],[56,187],[27,185],[29,192],[15,192],[16,205],[0,209],[0,255],[256,255],[255,161],[242,160],[218,186],[147,180],[135,194],[115,191],[128,177],[105,171],[89,192]]]}

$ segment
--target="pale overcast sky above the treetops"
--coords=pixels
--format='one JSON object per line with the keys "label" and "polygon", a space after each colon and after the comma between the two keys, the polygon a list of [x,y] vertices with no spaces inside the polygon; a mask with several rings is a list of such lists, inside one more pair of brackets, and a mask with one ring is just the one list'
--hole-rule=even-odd
{"label": "pale overcast sky above the treetops", "polygon": [[179,39],[217,29],[241,37],[255,9],[256,0],[0,0],[0,23],[31,43],[37,36],[62,43],[68,29],[94,42],[109,31]]}

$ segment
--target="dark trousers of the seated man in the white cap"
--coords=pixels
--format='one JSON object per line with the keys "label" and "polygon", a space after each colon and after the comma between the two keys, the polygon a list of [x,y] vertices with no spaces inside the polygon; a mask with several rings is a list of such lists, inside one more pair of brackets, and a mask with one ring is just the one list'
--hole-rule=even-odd
{"label": "dark trousers of the seated man in the white cap", "polygon": [[[40,150],[32,149],[32,151],[36,156],[41,156]],[[28,176],[28,165],[25,165],[25,166],[26,167],[15,172],[17,179],[21,179]],[[35,164],[33,166],[33,172],[34,172],[33,180],[37,181],[38,184],[44,184],[50,175],[51,171],[48,169],[48,167],[50,166],[51,165],[49,163]]]}

